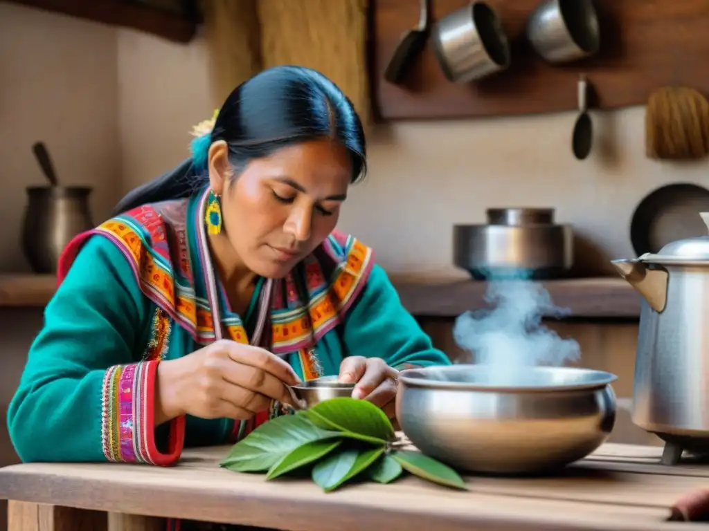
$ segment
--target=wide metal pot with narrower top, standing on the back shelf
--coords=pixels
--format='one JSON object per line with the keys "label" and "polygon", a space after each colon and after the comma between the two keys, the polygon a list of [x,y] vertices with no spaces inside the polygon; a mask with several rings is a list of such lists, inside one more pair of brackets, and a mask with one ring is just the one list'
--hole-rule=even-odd
{"label": "wide metal pot with narrower top, standing on the back shelf", "polygon": [[454,263],[476,280],[544,279],[574,264],[570,225],[554,223],[552,208],[491,208],[487,224],[453,227]]}

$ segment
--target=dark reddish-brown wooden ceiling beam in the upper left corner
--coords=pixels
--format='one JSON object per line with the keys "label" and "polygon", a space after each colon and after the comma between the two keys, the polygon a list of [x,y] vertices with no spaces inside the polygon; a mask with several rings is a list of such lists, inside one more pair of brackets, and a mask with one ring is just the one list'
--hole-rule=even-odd
{"label": "dark reddish-brown wooden ceiling beam in the upper left corner", "polygon": [[121,0],[5,0],[82,18],[87,21],[131,28],[151,33],[172,42],[186,43],[197,32],[197,22],[186,16],[154,8],[128,4]]}

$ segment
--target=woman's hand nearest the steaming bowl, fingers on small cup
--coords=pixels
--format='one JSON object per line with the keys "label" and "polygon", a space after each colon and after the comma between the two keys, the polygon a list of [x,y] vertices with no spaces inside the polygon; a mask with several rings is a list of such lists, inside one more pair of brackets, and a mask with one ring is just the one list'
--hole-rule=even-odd
{"label": "woman's hand nearest the steaming bowl, fingers on small cup", "polygon": [[340,382],[357,383],[352,398],[366,399],[381,407],[389,418],[395,416],[398,371],[381,358],[350,356],[340,364]]}

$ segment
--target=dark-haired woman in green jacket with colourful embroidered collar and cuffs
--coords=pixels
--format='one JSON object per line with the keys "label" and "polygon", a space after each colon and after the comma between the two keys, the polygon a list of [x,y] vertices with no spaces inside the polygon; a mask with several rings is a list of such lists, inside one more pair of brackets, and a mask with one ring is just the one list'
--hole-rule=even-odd
{"label": "dark-haired woman in green jacket with colourful embroidered collar and cuffs", "polygon": [[171,465],[322,375],[393,416],[398,369],[448,363],[372,250],[335,231],[365,145],[325,76],[258,74],[192,151],[62,254],[8,411],[23,461]]}

